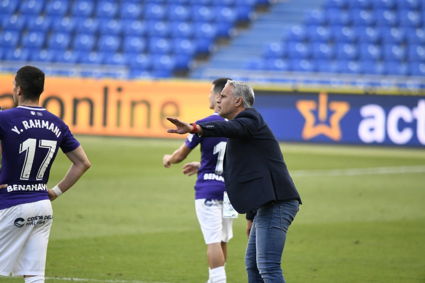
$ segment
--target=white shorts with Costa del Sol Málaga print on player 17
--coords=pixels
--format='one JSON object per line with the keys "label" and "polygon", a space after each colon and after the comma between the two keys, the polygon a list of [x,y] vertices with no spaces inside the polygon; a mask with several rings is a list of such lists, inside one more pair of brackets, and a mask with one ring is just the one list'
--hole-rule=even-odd
{"label": "white shorts with Costa del Sol M\u00e1laga print on player 17", "polygon": [[0,275],[44,276],[52,219],[48,199],[0,210]]}

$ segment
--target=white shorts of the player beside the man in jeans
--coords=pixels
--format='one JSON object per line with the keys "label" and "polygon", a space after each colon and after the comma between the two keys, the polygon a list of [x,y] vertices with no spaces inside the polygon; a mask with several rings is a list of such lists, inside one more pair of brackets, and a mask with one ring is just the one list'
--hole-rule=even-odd
{"label": "white shorts of the player beside the man in jeans", "polygon": [[233,219],[223,218],[223,201],[195,199],[195,210],[205,244],[227,243],[233,238]]}

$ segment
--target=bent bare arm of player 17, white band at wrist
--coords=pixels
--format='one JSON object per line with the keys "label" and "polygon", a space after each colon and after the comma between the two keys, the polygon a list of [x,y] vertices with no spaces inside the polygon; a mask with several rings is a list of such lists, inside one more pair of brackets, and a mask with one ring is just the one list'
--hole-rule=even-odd
{"label": "bent bare arm of player 17, white band at wrist", "polygon": [[[71,160],[72,164],[65,177],[57,184],[57,187],[59,187],[62,193],[71,188],[82,176],[82,174],[84,174],[84,172],[87,171],[87,169],[91,166],[81,146],[65,154],[68,159]],[[48,190],[48,193],[49,199],[51,201],[54,201],[57,198],[57,195],[53,189]]]}

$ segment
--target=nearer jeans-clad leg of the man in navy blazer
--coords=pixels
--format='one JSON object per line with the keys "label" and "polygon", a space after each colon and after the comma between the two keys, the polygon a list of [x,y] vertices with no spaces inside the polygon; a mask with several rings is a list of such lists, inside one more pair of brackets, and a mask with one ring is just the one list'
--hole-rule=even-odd
{"label": "nearer jeans-clad leg of the man in navy blazer", "polygon": [[298,201],[278,201],[263,205],[254,220],[257,267],[265,283],[285,283],[281,268],[286,232],[298,212]]}

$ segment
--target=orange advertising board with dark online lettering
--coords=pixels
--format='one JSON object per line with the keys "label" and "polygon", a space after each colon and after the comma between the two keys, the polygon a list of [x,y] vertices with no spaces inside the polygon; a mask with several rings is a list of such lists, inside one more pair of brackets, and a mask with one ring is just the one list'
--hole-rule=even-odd
{"label": "orange advertising board with dark online lettering", "polygon": [[[12,80],[0,76],[0,106],[12,108]],[[48,78],[40,106],[74,134],[184,138],[169,134],[167,116],[195,122],[210,115],[210,84],[195,81],[119,81]]]}

